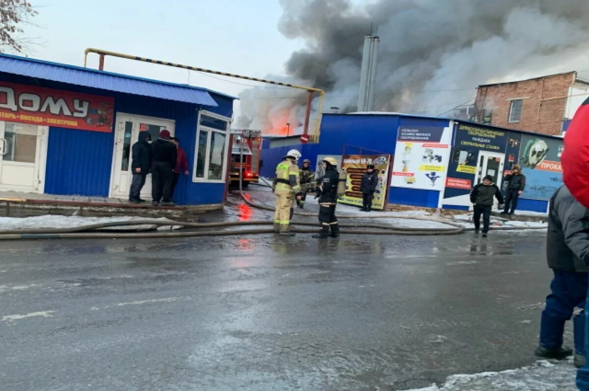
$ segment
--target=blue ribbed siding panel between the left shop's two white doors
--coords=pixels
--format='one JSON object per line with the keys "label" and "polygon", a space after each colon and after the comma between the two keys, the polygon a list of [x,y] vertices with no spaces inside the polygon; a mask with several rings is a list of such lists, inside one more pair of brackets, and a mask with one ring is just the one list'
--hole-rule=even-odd
{"label": "blue ribbed siding panel between the left shop's two white doors", "polygon": [[45,193],[108,197],[114,135],[49,128]]}

